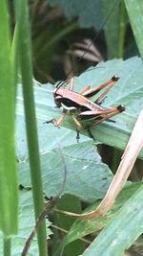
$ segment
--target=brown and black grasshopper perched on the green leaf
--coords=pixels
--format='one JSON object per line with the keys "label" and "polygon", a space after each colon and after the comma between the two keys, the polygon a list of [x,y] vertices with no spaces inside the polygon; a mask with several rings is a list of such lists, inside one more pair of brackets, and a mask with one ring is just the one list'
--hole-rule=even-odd
{"label": "brown and black grasshopper perched on the green leaf", "polygon": [[[110,109],[103,109],[103,107],[101,106],[106,94],[111,90],[112,86],[118,80],[119,77],[113,76],[112,79],[104,82],[103,84],[100,84],[95,88],[91,89],[90,85],[85,86],[78,93],[74,91],[73,78],[70,80],[69,88],[61,86],[63,84],[61,84],[60,86],[58,86],[57,84],[56,88],[53,91],[53,98],[55,105],[57,107],[62,106],[63,111],[61,117],[58,120],[51,119],[49,121],[46,121],[45,123],[52,123],[54,127],[59,127],[66,118],[66,115],[69,111],[72,115],[72,120],[76,126],[77,142],[79,141],[79,132],[82,128],[80,120],[82,121],[92,119],[91,124],[86,128],[89,131],[90,137],[93,138],[91,132],[92,126],[100,124],[105,120],[114,122],[111,120],[111,117],[125,110],[124,105],[118,105]],[[104,88],[106,88],[105,91],[94,102],[89,100],[89,98],[93,97],[96,93]]]}

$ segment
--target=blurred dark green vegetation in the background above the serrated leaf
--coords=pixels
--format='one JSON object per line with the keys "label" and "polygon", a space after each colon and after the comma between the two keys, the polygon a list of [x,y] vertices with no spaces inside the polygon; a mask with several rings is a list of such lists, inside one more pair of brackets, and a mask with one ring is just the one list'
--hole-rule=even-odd
{"label": "blurred dark green vegetation in the background above the serrated leaf", "polygon": [[[70,76],[74,76],[101,60],[138,54],[124,1],[84,0],[82,5],[81,1],[64,0],[29,3],[32,62],[38,81],[65,80],[71,69]],[[14,15],[10,10],[13,28]]]}

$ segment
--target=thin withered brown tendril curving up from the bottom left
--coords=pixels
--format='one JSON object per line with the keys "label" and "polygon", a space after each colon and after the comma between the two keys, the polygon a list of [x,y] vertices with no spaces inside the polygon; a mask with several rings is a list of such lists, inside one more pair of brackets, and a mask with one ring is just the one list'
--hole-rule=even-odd
{"label": "thin withered brown tendril curving up from the bottom left", "polygon": [[26,241],[26,244],[23,248],[23,251],[21,253],[21,256],[26,256],[28,255],[28,251],[30,249],[30,246],[31,246],[31,242],[37,232],[37,229],[41,223],[41,221],[43,221],[43,219],[49,214],[49,212],[51,211],[51,209],[53,209],[53,207],[55,206],[57,200],[62,196],[63,192],[64,192],[64,189],[65,189],[65,185],[66,185],[66,181],[67,181],[67,174],[68,174],[68,171],[67,171],[67,166],[66,166],[66,162],[65,162],[65,157],[64,157],[64,153],[62,151],[62,148],[60,146],[60,143],[57,142],[58,144],[58,148],[59,148],[59,151],[60,151],[60,154],[61,154],[61,159],[62,159],[62,163],[63,163],[63,167],[64,167],[64,179],[63,179],[63,183],[62,183],[62,186],[61,186],[61,189],[58,193],[58,195],[54,198],[51,198],[51,200],[46,204],[43,212],[40,214],[39,218],[37,219],[37,221],[35,222],[35,225],[34,225],[34,228],[33,230],[31,231],[31,235],[29,236],[29,238],[27,239]]}

